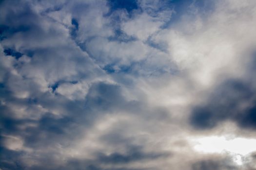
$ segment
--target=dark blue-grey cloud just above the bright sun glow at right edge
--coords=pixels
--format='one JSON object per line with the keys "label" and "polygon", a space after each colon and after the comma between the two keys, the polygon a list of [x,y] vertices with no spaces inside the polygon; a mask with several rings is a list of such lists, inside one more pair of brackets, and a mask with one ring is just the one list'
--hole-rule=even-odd
{"label": "dark blue-grey cloud just above the bright sun glow at right edge", "polygon": [[[241,128],[256,127],[255,85],[248,80],[230,79],[210,92],[206,103],[196,106],[190,123],[197,129],[210,129],[225,120],[232,120]],[[243,106],[244,105],[244,106]]]}

